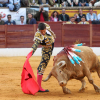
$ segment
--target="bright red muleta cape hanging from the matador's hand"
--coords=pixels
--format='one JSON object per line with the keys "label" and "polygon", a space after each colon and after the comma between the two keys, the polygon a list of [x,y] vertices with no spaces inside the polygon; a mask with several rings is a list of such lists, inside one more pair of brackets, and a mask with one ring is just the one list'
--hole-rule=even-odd
{"label": "bright red muleta cape hanging from the matador's hand", "polygon": [[27,55],[21,74],[22,91],[26,94],[35,94],[39,91],[39,85],[29,63],[29,58],[32,56],[32,51]]}

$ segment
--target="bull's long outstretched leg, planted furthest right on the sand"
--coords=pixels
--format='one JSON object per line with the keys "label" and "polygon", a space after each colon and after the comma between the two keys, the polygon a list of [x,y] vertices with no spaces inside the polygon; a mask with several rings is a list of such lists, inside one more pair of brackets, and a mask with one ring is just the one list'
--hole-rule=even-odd
{"label": "bull's long outstretched leg, planted furthest right on the sand", "polygon": [[89,69],[86,68],[86,70],[84,72],[85,72],[84,74],[87,76],[89,82],[94,86],[95,91],[97,93],[100,93],[100,88],[97,85],[94,84],[94,81],[92,79],[92,76],[91,76],[91,73],[90,73]]}

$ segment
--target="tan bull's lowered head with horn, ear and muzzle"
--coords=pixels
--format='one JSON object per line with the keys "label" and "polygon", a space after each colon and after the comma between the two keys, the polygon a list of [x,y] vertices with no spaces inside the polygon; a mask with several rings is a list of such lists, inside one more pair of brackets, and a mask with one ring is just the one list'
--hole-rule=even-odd
{"label": "tan bull's lowered head with horn, ear and muzzle", "polygon": [[43,81],[46,82],[50,79],[51,76],[54,76],[58,80],[60,86],[65,86],[68,80],[67,73],[65,73],[64,71],[65,67],[66,67],[65,61],[60,61],[58,63],[55,63],[48,77]]}

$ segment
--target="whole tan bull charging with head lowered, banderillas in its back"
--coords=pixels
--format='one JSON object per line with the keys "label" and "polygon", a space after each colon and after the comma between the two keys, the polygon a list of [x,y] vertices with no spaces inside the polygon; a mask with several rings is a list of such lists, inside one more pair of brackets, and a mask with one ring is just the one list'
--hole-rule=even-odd
{"label": "whole tan bull charging with head lowered, banderillas in its back", "polygon": [[100,62],[96,54],[90,47],[87,46],[76,46],[76,49],[80,49],[83,52],[74,52],[83,62],[80,62],[81,66],[75,63],[75,66],[69,61],[64,50],[60,51],[54,58],[53,68],[49,73],[48,77],[43,80],[44,82],[48,81],[51,76],[54,76],[59,85],[62,87],[63,92],[68,94],[71,91],[66,88],[67,82],[71,79],[80,80],[82,87],[79,89],[80,92],[85,90],[86,82],[84,77],[88,78],[90,84],[93,85],[95,91],[100,93],[100,88],[94,84],[94,81],[91,76],[91,72],[96,71],[100,78]]}

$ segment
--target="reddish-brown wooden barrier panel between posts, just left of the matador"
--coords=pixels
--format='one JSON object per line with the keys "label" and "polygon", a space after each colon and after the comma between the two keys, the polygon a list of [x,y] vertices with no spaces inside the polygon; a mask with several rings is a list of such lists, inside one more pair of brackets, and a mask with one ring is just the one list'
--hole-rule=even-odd
{"label": "reddish-brown wooden barrier panel between posts, just left of the matador", "polygon": [[25,48],[33,45],[36,25],[7,26],[7,48]]}

